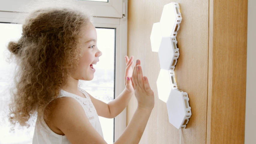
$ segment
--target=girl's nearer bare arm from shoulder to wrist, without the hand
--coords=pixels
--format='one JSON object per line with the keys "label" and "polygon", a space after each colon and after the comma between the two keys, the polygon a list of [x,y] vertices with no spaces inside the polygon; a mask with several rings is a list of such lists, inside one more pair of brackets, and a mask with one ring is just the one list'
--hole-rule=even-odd
{"label": "girl's nearer bare arm from shoulder to wrist, without the hand", "polygon": [[[92,127],[83,107],[73,98],[54,100],[50,122],[62,131],[71,143],[107,144]],[[137,144],[145,130],[152,109],[138,107],[130,123],[114,144]]]}

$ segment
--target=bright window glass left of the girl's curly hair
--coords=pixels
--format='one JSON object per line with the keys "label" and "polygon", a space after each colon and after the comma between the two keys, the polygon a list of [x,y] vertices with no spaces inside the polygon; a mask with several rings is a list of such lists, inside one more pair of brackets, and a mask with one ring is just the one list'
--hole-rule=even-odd
{"label": "bright window glass left of the girl's curly hair", "polygon": [[21,37],[22,29],[18,24],[0,23],[0,143],[1,144],[18,144],[32,143],[34,127],[10,131],[8,125],[7,113],[9,95],[9,85],[13,82],[14,63],[8,63],[6,57],[10,53],[7,45],[10,40],[17,41]]}

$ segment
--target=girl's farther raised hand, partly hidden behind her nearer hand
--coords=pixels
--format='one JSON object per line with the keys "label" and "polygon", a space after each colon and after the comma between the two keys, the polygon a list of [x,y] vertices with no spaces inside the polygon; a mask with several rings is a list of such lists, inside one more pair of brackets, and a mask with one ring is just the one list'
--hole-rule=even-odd
{"label": "girl's farther raised hand, partly hidden behind her nearer hand", "polygon": [[127,55],[125,55],[125,89],[129,92],[134,92],[134,87],[132,86],[131,76],[132,76],[132,65],[133,65],[133,56],[129,59]]}

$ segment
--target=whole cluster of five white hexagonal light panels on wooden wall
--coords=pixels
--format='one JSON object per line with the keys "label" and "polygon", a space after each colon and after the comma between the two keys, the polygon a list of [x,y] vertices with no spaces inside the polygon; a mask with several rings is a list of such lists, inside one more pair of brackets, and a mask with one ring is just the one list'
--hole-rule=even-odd
{"label": "whole cluster of five white hexagonal light panels on wooden wall", "polygon": [[160,22],[153,24],[150,35],[152,51],[158,52],[161,67],[156,82],[158,98],[166,103],[169,122],[177,129],[186,128],[192,114],[188,93],[177,88],[174,73],[179,58],[176,36],[181,21],[179,4],[166,4]]}

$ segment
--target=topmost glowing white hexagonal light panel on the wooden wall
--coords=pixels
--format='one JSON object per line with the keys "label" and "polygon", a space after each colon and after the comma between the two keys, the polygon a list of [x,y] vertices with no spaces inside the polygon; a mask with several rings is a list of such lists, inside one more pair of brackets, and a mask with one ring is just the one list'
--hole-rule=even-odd
{"label": "topmost glowing white hexagonal light panel on the wooden wall", "polygon": [[164,5],[160,19],[161,32],[163,37],[176,37],[182,16],[179,11],[179,4],[171,2]]}

